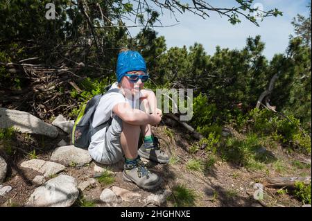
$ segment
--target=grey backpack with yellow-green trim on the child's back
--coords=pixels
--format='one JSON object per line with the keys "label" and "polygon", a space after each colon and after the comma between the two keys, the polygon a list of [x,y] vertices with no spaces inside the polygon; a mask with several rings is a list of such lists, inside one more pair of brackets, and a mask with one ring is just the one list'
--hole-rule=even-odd
{"label": "grey backpack with yellow-green trim on the child's back", "polygon": [[[105,89],[108,88],[109,86],[105,87]],[[97,127],[92,127],[94,112],[96,111],[96,107],[98,106],[98,103],[100,103],[102,96],[113,92],[119,92],[119,89],[110,89],[104,94],[97,94],[85,105],[83,105],[71,132],[71,141],[76,148],[87,149],[91,142],[91,137],[99,130],[103,129],[107,125],[110,125],[110,123],[112,122],[112,118],[110,118],[108,121],[105,121],[101,125],[98,125]]]}

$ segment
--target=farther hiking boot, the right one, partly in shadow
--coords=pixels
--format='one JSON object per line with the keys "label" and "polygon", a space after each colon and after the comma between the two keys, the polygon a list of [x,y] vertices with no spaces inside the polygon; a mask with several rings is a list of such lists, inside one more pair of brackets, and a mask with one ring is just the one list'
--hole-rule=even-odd
{"label": "farther hiking boot, the right one, partly in shadow", "polygon": [[164,151],[159,150],[158,143],[156,136],[154,136],[153,143],[143,143],[138,150],[139,156],[145,159],[151,159],[157,163],[168,163],[170,158]]}

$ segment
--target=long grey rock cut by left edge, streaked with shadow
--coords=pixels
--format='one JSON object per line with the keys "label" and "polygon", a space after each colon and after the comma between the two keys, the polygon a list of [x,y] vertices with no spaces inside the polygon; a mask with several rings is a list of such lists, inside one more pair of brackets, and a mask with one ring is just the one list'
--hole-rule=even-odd
{"label": "long grey rock cut by left edge, streaked with shadow", "polygon": [[42,134],[52,138],[58,136],[58,129],[44,123],[40,118],[26,112],[0,107],[0,128],[8,127],[15,127],[19,132],[26,134]]}

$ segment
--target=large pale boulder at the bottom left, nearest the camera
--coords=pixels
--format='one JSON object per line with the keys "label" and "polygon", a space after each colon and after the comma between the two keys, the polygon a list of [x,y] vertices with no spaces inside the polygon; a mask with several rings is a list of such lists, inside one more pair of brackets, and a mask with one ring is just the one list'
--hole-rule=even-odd
{"label": "large pale boulder at the bottom left, nearest the camera", "polygon": [[36,188],[25,206],[69,207],[77,200],[78,195],[76,179],[59,175]]}

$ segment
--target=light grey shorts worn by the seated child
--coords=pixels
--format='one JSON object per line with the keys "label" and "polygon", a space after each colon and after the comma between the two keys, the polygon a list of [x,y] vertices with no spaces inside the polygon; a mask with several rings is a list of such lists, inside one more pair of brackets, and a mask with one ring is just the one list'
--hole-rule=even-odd
{"label": "light grey shorts worn by the seated child", "polygon": [[103,142],[89,150],[91,157],[98,163],[113,164],[123,159],[120,136],[123,131],[123,121],[119,116],[112,118],[112,123],[106,128]]}

